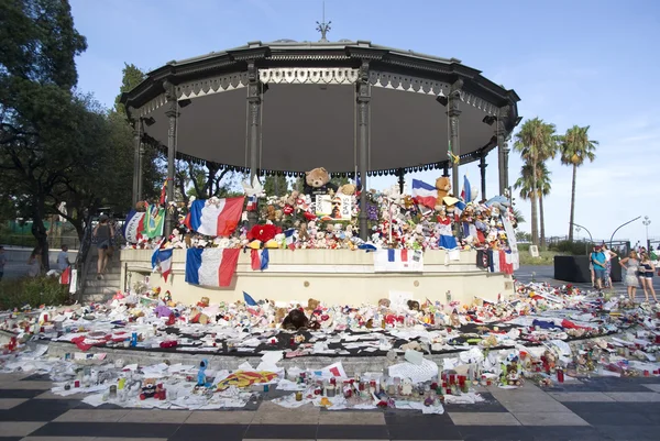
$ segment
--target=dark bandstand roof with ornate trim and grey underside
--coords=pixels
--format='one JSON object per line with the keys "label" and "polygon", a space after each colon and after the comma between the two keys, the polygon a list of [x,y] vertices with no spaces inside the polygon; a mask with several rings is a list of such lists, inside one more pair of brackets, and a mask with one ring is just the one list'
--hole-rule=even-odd
{"label": "dark bandstand roof with ornate trim and grey underside", "polygon": [[[495,130],[518,123],[514,90],[455,58],[440,58],[363,41],[251,42],[233,49],[169,62],[121,100],[145,139],[167,145],[164,81],[179,102],[177,156],[246,170],[249,63],[263,84],[260,170],[299,173],[356,167],[356,87],[369,60],[370,172],[442,167],[448,161],[447,97],[460,89],[460,150],[469,163],[496,146]],[[444,101],[446,104],[446,101]],[[455,153],[455,152],[454,152]]]}

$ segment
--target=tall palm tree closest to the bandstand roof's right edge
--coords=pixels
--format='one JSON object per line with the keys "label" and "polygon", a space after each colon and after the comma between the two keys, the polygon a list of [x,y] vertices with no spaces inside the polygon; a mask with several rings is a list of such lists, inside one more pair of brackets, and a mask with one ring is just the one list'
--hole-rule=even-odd
{"label": "tall palm tree closest to the bandstand roof's right edge", "polygon": [[[554,124],[546,123],[538,117],[534,120],[528,120],[522,124],[520,131],[516,133],[516,142],[514,150],[520,153],[520,157],[526,164],[531,166],[531,188],[537,186],[537,167],[540,163],[548,158],[554,157],[557,153],[557,136],[554,134]],[[535,245],[539,244],[538,231],[538,208],[537,194],[530,192],[531,196],[531,242]]]}

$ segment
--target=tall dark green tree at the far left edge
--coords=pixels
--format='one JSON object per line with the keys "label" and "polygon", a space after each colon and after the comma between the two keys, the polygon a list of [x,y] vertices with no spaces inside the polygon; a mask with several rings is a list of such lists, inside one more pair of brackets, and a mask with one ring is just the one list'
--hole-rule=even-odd
{"label": "tall dark green tree at the far left edge", "polygon": [[0,185],[21,199],[48,266],[47,199],[76,164],[75,57],[87,48],[68,1],[0,1]]}

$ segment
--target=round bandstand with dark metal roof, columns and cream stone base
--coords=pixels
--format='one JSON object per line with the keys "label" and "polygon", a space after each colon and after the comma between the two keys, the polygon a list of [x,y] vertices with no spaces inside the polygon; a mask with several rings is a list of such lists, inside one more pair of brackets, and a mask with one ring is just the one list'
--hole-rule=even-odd
{"label": "round bandstand with dark metal roof, columns and cream stone base", "polygon": [[[255,175],[302,176],[322,166],[332,176],[359,177],[363,188],[374,176],[397,176],[403,188],[407,173],[437,169],[438,176],[449,176],[451,168],[458,189],[459,167],[479,161],[482,197],[487,195],[486,155],[497,148],[499,188],[493,195],[502,195],[508,188],[507,139],[520,120],[515,91],[459,59],[324,38],[250,42],[170,62],[121,100],[134,124],[134,201],[142,199],[144,143],[167,152],[168,179],[175,158],[182,158],[249,173],[251,180]],[[167,187],[168,200],[174,200],[174,187]],[[166,231],[173,221],[169,217]],[[366,225],[362,191],[363,239]],[[147,254],[122,253],[124,280],[151,272]],[[373,301],[386,297],[386,289],[422,298],[451,289],[454,298],[470,301],[513,289],[509,276],[477,268],[475,252],[463,252],[451,264],[444,251],[425,254],[422,274],[387,277],[375,274],[361,252],[275,250],[267,273],[242,268],[249,266],[249,256],[242,255],[232,287],[219,296],[234,299],[243,290],[261,290],[261,297],[283,300]],[[208,289],[185,285],[184,261],[185,252],[175,252],[174,277],[163,288],[176,286],[173,294],[189,300],[208,296]]]}

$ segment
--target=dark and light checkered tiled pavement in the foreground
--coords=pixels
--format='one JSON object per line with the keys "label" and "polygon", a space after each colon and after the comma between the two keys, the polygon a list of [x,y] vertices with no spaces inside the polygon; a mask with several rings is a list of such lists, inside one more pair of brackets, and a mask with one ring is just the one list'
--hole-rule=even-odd
{"label": "dark and light checkered tiled pavement in the foreground", "polygon": [[541,390],[481,390],[485,403],[418,411],[91,408],[38,377],[0,374],[0,441],[87,440],[658,440],[660,378],[592,378]]}

